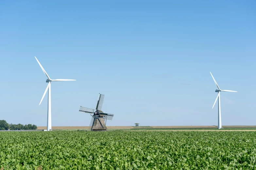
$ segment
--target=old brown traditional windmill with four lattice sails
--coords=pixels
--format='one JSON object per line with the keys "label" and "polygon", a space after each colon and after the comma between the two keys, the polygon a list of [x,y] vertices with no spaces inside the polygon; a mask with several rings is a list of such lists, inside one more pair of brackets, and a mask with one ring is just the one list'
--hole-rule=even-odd
{"label": "old brown traditional windmill with four lattice sails", "polygon": [[90,113],[92,120],[90,123],[91,131],[106,131],[107,120],[112,120],[113,114],[104,113],[101,111],[101,107],[104,100],[104,94],[99,94],[97,105],[95,109],[80,106],[79,112]]}

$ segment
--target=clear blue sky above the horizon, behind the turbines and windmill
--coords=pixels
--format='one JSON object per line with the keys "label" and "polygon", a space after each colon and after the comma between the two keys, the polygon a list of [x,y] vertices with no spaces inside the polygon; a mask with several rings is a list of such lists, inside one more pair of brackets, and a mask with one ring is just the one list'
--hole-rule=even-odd
{"label": "clear blue sky above the horizon, behind the turbines and windmill", "polygon": [[107,125],[256,124],[255,1],[1,1],[0,120],[88,126],[98,93]]}

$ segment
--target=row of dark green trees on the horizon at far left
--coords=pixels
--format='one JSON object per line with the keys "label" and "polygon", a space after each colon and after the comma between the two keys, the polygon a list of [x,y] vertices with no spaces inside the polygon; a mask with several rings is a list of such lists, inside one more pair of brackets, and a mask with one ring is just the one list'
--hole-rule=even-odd
{"label": "row of dark green trees on the horizon at far left", "polygon": [[0,130],[33,130],[37,129],[36,125],[32,124],[9,124],[5,120],[0,120]]}

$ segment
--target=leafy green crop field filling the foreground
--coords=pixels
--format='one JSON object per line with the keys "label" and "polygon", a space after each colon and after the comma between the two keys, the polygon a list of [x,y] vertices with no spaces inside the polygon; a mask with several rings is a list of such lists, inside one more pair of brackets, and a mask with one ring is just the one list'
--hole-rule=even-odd
{"label": "leafy green crop field filling the foreground", "polygon": [[256,169],[256,132],[0,132],[0,169]]}

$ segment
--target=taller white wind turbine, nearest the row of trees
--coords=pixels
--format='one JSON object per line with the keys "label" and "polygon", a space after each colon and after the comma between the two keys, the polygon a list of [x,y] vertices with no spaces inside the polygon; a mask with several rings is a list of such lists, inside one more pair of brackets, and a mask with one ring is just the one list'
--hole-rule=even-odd
{"label": "taller white wind turbine, nearest the row of trees", "polygon": [[[35,57],[36,58],[36,57]],[[40,67],[43,70],[43,73],[47,76],[46,79],[46,83],[48,83],[45,92],[43,93],[43,97],[39,103],[39,105],[41,104],[41,102],[43,101],[43,98],[48,90],[48,112],[47,112],[47,131],[52,130],[52,117],[51,117],[51,82],[52,81],[75,81],[75,80],[71,80],[71,79],[55,79],[52,80],[48,74],[46,73],[46,71],[43,69],[43,66],[39,63],[39,61],[36,58],[36,61],[38,62],[38,64],[40,65]]]}

